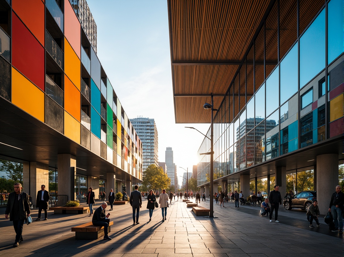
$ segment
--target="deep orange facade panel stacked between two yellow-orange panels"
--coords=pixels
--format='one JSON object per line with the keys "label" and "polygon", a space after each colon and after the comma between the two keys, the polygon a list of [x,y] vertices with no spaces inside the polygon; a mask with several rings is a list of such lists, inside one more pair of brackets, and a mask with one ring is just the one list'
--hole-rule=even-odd
{"label": "deep orange facade panel stacked between two yellow-orange panels", "polygon": [[64,89],[65,110],[80,122],[80,91],[66,75]]}

